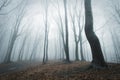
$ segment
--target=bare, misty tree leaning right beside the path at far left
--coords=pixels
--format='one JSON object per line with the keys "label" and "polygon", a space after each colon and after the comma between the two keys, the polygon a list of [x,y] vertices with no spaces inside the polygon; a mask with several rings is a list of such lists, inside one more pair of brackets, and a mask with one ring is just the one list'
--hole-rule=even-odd
{"label": "bare, misty tree leaning right beside the path at far left", "polygon": [[[26,5],[26,2],[25,2],[25,5]],[[13,28],[13,32],[11,31],[11,37],[10,37],[9,44],[8,44],[8,50],[7,50],[5,60],[4,60],[4,62],[6,63],[11,62],[11,54],[14,48],[15,41],[21,35],[21,33],[19,33],[19,27],[25,15],[25,11],[24,11],[25,5],[20,7],[20,12],[17,15],[16,22]]]}

